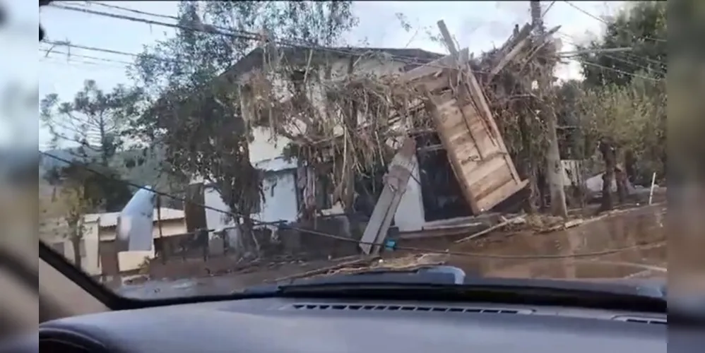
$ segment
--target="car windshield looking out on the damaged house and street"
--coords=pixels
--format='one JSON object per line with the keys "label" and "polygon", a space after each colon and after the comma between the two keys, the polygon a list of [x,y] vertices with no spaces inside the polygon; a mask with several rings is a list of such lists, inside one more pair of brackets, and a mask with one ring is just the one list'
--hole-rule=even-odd
{"label": "car windshield looking out on the damaged house and street", "polygon": [[53,1],[40,237],[126,297],[665,278],[665,1]]}

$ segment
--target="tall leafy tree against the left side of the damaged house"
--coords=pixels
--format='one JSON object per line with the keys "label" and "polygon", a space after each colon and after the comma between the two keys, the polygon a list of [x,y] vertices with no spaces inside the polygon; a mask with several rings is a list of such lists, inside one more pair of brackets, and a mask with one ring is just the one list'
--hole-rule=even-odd
{"label": "tall leafy tree against the left side of the damaged house", "polygon": [[[179,3],[179,29],[147,47],[131,76],[155,100],[132,126],[134,136],[165,149],[172,171],[212,181],[233,213],[249,216],[261,201],[261,175],[249,161],[249,126],[237,88],[215,80],[258,44],[331,46],[357,23],[352,1],[199,1]],[[204,22],[208,22],[205,24]],[[247,32],[247,33],[246,33]]]}

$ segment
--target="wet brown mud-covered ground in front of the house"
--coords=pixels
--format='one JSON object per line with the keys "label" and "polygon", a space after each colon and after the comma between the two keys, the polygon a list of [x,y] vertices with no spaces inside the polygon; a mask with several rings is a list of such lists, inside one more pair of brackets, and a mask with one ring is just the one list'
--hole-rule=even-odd
{"label": "wet brown mud-covered ground in front of the house", "polygon": [[[468,275],[560,279],[665,277],[664,218],[665,205],[652,205],[617,211],[555,232],[504,231],[460,244],[454,244],[459,238],[454,237],[404,241],[399,245],[439,252],[448,249],[450,255],[442,256],[444,262],[462,268]],[[410,251],[394,251],[385,256],[410,255]],[[211,273],[181,280],[135,282],[115,290],[128,297],[145,299],[225,294],[334,263],[336,261],[261,264],[224,275]]]}

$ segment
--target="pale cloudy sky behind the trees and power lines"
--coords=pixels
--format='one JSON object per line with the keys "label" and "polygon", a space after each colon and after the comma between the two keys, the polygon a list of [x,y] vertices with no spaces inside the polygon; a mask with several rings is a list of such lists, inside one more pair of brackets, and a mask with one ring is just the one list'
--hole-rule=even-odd
{"label": "pale cloudy sky behind the trees and power lines", "polygon": [[[551,3],[544,23],[547,28],[561,25],[558,37],[562,40],[562,51],[574,49],[575,43],[596,37],[603,31],[604,23],[600,20],[569,6],[564,1],[542,1],[544,8]],[[83,6],[85,1],[61,1],[59,4]],[[105,4],[132,8],[149,13],[175,16],[177,1],[105,1]],[[617,8],[624,6],[624,1],[576,1],[576,6],[595,16],[608,16]],[[18,26],[31,27],[36,20],[36,2],[16,1],[12,11],[17,14]],[[122,14],[125,16],[160,20],[174,23],[173,20],[143,16],[136,13],[105,8],[93,4],[95,11]],[[430,41],[425,28],[437,32],[437,21],[444,20],[451,35],[454,35],[459,48],[468,47],[470,52],[479,54],[504,42],[515,24],[528,23],[528,1],[355,1],[353,11],[360,23],[346,39],[350,44],[366,40],[370,47],[408,47],[426,49],[432,52],[446,53],[444,47]],[[403,13],[411,30],[405,31],[396,13]],[[70,41],[85,47],[97,47],[117,52],[137,54],[145,45],[165,38],[172,33],[171,28],[148,25],[129,20],[108,18],[89,13],[66,11],[59,8],[42,8],[40,19],[47,37],[54,41]],[[29,23],[29,25],[28,25]],[[36,27],[35,27],[36,28]],[[36,38],[36,30],[32,33]],[[0,37],[1,40],[1,37]],[[33,47],[33,46],[32,46]],[[75,92],[81,90],[83,81],[93,79],[100,88],[111,90],[114,85],[131,84],[125,73],[125,64],[134,57],[122,54],[110,54],[78,48],[54,47],[52,54],[42,50],[50,49],[49,44],[40,44],[39,60],[15,58],[15,74],[26,87],[36,87],[39,82],[39,97],[57,93],[60,99],[69,100]],[[25,48],[26,49],[26,48]],[[92,56],[86,59],[71,55]],[[24,57],[24,56],[23,56]],[[8,60],[3,58],[1,60]],[[117,63],[114,61],[122,61]],[[580,68],[576,62],[559,67],[559,78],[580,78]],[[36,121],[36,120],[35,120]],[[0,126],[1,130],[1,126]],[[0,144],[6,142],[11,133],[0,133]],[[50,140],[47,128],[39,127],[38,145],[45,149]]]}

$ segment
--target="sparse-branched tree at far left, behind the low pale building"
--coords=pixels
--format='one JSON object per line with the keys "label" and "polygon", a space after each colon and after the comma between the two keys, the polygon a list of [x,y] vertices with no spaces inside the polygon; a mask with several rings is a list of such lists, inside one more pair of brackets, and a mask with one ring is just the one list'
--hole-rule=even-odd
{"label": "sparse-branched tree at far left, behind the low pale building", "polygon": [[[95,81],[86,80],[83,90],[77,92],[72,101],[60,102],[57,94],[50,94],[40,102],[40,118],[52,134],[52,143],[57,145],[59,140],[78,143],[78,148],[71,149],[73,163],[61,164],[47,176],[53,184],[69,183],[66,192],[70,197],[66,197],[91,199],[85,205],[72,201],[77,203],[72,207],[79,208],[80,204],[81,210],[115,212],[129,201],[129,187],[111,165],[111,160],[122,148],[122,133],[129,119],[137,114],[141,97],[141,90],[122,85],[104,93]],[[80,178],[77,169],[84,169]],[[91,193],[83,194],[85,190],[77,190],[72,183],[88,183],[93,188]]]}

